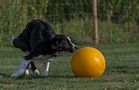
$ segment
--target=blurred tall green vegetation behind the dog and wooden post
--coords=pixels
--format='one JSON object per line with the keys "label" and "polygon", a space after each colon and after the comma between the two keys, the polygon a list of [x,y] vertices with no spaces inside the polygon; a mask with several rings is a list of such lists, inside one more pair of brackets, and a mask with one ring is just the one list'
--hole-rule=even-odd
{"label": "blurred tall green vegetation behind the dog and wooden post", "polygon": [[[55,32],[78,44],[93,43],[92,0],[0,0],[0,46],[10,46],[32,19],[50,23]],[[99,42],[139,41],[139,0],[97,0]]]}

